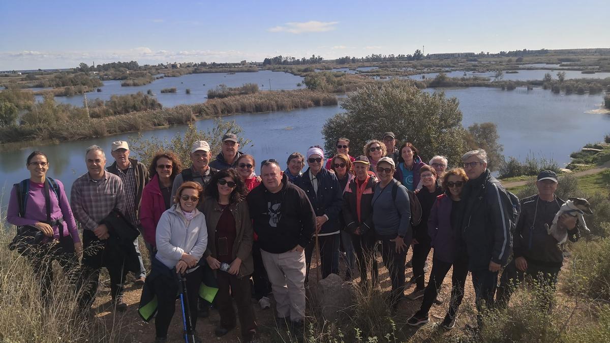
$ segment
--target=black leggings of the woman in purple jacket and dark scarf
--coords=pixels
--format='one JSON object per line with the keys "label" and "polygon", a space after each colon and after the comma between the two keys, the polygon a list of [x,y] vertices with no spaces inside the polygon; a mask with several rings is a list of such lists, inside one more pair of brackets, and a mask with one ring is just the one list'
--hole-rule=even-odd
{"label": "black leggings of the woman in purple jacket and dark scarf", "polygon": [[417,317],[428,317],[428,312],[432,307],[432,302],[439,294],[440,286],[443,284],[443,279],[449,269],[453,265],[453,273],[451,274],[451,301],[449,303],[449,311],[447,314],[454,318],[458,312],[459,305],[464,298],[464,284],[466,276],[468,276],[468,261],[462,260],[452,263],[443,262],[439,259],[432,259],[432,273],[428,287],[423,294],[422,307],[415,314]]}

